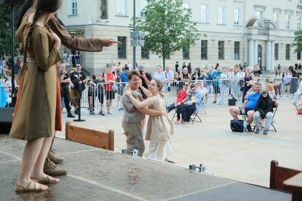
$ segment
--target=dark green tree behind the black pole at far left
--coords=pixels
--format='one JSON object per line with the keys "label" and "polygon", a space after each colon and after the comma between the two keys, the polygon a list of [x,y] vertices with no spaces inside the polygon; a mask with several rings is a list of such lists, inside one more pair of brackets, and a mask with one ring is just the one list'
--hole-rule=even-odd
{"label": "dark green tree behind the black pole at far left", "polygon": [[[14,15],[17,14],[19,8],[14,8]],[[14,33],[17,31],[14,27]],[[19,43],[14,40],[14,54],[18,56],[16,51],[19,48]],[[0,6],[0,57],[2,55],[11,56],[11,8]]]}

